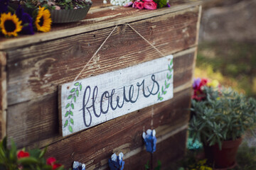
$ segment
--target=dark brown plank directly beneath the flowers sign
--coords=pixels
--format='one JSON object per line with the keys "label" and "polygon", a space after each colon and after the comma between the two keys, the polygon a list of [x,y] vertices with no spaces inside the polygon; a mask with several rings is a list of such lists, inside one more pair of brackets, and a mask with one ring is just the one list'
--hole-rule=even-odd
{"label": "dark brown plank directly beneath the flowers sign", "polygon": [[85,162],[87,169],[97,169],[107,164],[113,152],[127,154],[144,147],[143,130],[155,128],[159,138],[176,129],[182,130],[189,119],[191,88],[174,96],[175,100],[143,108],[55,142],[48,146],[46,157],[56,157],[68,167],[77,160]]}

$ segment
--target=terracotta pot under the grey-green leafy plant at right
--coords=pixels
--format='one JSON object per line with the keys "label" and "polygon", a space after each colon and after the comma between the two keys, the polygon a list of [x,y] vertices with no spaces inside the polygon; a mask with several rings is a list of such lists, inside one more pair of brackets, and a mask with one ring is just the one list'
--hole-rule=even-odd
{"label": "terracotta pot under the grey-green leafy plant at right", "polygon": [[211,147],[204,146],[206,159],[212,162],[216,169],[231,168],[236,164],[235,157],[241,142],[242,137],[237,140],[223,141],[221,150],[218,144]]}

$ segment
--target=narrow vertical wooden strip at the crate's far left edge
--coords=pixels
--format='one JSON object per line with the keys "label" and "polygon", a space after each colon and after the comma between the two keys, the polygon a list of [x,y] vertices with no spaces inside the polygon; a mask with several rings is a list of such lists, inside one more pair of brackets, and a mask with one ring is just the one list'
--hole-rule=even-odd
{"label": "narrow vertical wooden strip at the crate's far left edge", "polygon": [[0,52],[0,140],[6,135],[6,52]]}

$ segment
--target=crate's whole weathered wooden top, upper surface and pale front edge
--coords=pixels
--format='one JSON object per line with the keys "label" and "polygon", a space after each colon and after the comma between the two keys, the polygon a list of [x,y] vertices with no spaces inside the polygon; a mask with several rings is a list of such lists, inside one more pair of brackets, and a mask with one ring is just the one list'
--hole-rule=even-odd
{"label": "crate's whole weathered wooden top, upper surface and pale front edge", "polygon": [[[89,13],[87,14],[86,18],[88,18],[88,21],[85,19],[84,21],[80,21],[78,23],[63,25],[60,24],[58,26],[56,25],[49,33],[37,33],[36,35],[33,35],[33,38],[31,38],[31,35],[21,36],[15,39],[2,38],[0,40],[0,50],[31,45],[33,43],[43,42],[47,40],[55,40],[58,38],[68,37],[70,35],[78,35],[80,33],[86,33],[92,30],[99,30],[102,28],[117,26],[124,23],[131,23],[134,21],[143,20],[145,18],[164,15],[166,13],[173,13],[174,15],[179,15],[184,11],[198,10],[199,4],[201,4],[201,1],[189,1],[186,4],[179,4],[177,6],[174,5],[170,8],[161,8],[155,11],[110,6],[106,7],[108,8],[106,13],[102,12],[106,11],[106,8],[96,8],[95,12],[92,10],[89,11]],[[114,10],[112,10],[113,8]],[[102,13],[105,13],[105,15],[102,15]],[[97,19],[91,20],[90,15],[92,15],[92,18]]]}

